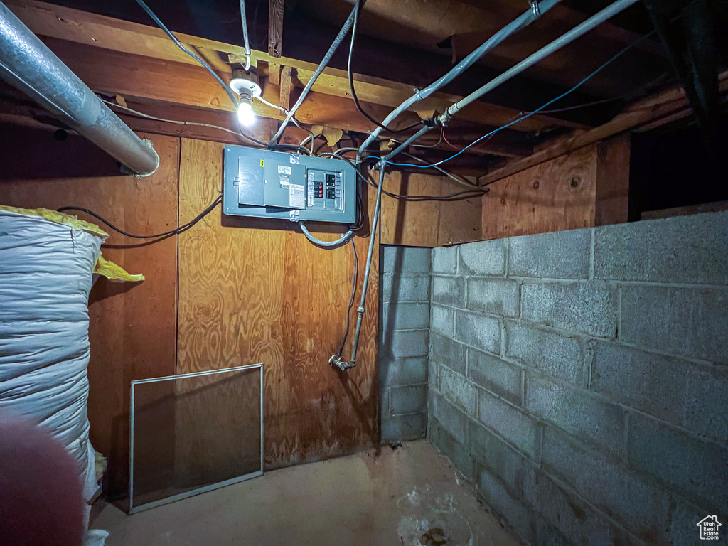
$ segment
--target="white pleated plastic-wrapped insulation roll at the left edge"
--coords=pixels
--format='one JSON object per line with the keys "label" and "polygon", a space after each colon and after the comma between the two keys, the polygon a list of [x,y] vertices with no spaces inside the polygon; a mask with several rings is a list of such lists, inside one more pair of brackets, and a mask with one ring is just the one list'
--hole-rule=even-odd
{"label": "white pleated plastic-wrapped insulation roll at the left edge", "polygon": [[73,456],[90,500],[88,298],[103,238],[0,210],[0,410],[44,427]]}

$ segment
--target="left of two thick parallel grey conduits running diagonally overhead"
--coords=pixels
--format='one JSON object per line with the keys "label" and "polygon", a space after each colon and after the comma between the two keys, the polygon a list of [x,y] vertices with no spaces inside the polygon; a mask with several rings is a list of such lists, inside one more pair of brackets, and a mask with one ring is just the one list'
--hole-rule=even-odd
{"label": "left of two thick parallel grey conduits running diagonally overhead", "polygon": [[[440,87],[443,87],[448,83],[452,82],[456,77],[466,71],[467,68],[470,68],[470,66],[475,64],[475,62],[483,57],[483,55],[485,55],[488,51],[492,50],[494,47],[507,39],[513,33],[520,31],[521,28],[524,28],[533,23],[535,20],[539,19],[541,15],[554,7],[560,1],[561,0],[542,0],[541,2],[532,1],[531,9],[529,9],[529,11],[523,13],[523,15],[505,25],[505,27],[501,28],[493,36],[484,41],[483,44],[480,44],[480,47],[478,47],[478,49],[470,53],[470,55],[467,55],[466,58],[464,58],[456,66],[451,68],[451,70],[448,71],[447,74],[440,77],[440,79],[428,85],[424,89],[417,91],[414,95],[412,95],[402,104],[400,104],[400,106],[397,106],[397,108],[389,113],[389,116],[384,118],[384,121],[381,122],[381,124],[389,125],[389,123],[394,121],[397,116],[399,116],[403,111],[412,106],[414,103],[429,97],[430,95],[432,95],[433,92],[440,89]],[[374,139],[379,136],[381,132],[382,128],[376,127],[371,135],[369,135],[369,137],[360,146],[359,154],[362,154],[367,146],[369,146],[374,141]]]}

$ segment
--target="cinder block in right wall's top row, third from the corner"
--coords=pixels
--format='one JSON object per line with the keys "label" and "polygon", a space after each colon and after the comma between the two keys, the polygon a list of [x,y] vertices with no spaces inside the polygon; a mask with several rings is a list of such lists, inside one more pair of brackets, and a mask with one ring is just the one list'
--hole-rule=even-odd
{"label": "cinder block in right wall's top row, third from the corner", "polygon": [[590,229],[511,237],[509,277],[588,279]]}

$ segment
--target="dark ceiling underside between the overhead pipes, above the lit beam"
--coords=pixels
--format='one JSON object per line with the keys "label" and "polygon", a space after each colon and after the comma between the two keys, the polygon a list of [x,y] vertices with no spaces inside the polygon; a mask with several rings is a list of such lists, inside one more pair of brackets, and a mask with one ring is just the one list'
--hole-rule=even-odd
{"label": "dark ceiling underside between the overhead pipes, above the lit beam", "polygon": [[[57,0],[53,3],[152,24],[133,0]],[[471,68],[445,91],[467,94],[609,3],[608,0],[573,2],[587,7],[582,12],[564,2],[489,52],[479,66]],[[248,0],[246,4],[252,45],[255,49],[267,50],[268,2]],[[318,63],[353,4],[353,0],[287,1],[282,55]],[[242,44],[237,1],[150,0],[149,5],[173,31]],[[360,22],[355,72],[422,87],[447,71],[453,60],[467,55],[528,7],[526,0],[369,0]],[[640,35],[633,28],[652,27],[641,3],[626,10],[617,21],[627,21],[630,28],[614,22],[600,25],[488,95],[488,102],[521,110],[537,108],[637,39]],[[340,47],[330,66],[346,68],[347,52],[348,47]],[[667,52],[659,39],[653,37],[605,68],[559,106],[604,98],[633,98],[646,84],[667,77],[669,71]],[[615,100],[587,110],[565,112],[560,117],[593,126],[611,118],[623,104]]]}

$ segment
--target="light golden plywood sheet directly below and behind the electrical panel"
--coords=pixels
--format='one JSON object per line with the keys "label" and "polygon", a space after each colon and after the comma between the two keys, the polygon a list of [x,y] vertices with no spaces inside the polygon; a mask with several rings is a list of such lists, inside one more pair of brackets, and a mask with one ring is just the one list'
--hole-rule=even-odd
{"label": "light golden plywood sheet directly below and behind the electrical panel", "polygon": [[[223,144],[182,139],[181,223],[219,194],[222,160]],[[360,285],[368,240],[356,243]],[[357,367],[341,373],[328,359],[344,333],[350,245],[322,250],[290,224],[219,212],[179,237],[178,373],[264,363],[266,468],[376,443],[378,256]]]}

